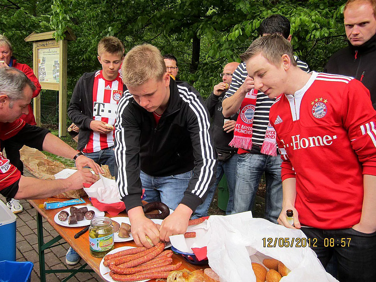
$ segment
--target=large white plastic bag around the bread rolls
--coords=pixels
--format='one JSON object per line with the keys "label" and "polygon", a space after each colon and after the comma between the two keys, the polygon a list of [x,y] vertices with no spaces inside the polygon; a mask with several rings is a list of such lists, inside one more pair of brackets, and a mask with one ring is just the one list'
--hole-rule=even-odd
{"label": "large white plastic bag around the bread rolls", "polygon": [[[252,218],[251,212],[211,215],[208,224],[211,232],[207,246],[209,266],[220,276],[221,282],[255,282],[251,263],[262,264],[262,260],[268,257],[278,259],[291,270],[282,277],[281,282],[337,281],[325,271],[311,248],[296,247],[297,241],[306,242],[306,236],[300,230],[288,229],[262,218]],[[268,238],[272,238],[271,247],[267,246]],[[279,241],[279,238],[289,240]],[[289,242],[286,243],[289,247],[279,247],[282,242]]]}

